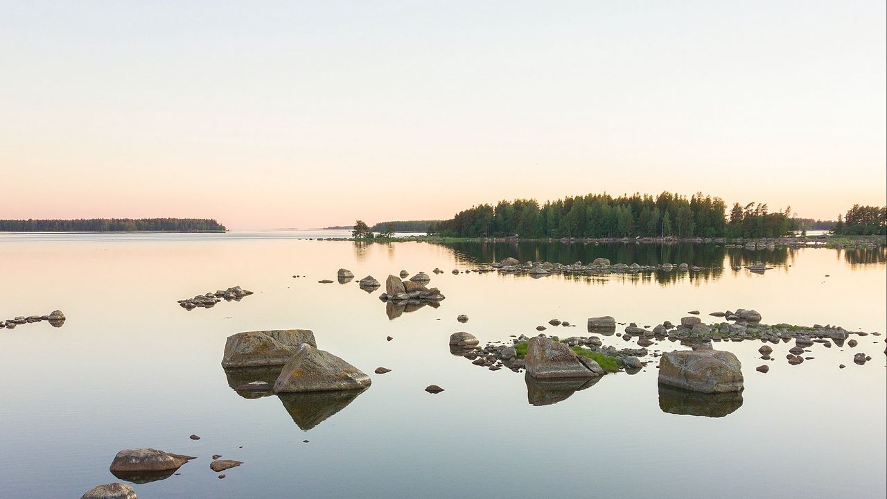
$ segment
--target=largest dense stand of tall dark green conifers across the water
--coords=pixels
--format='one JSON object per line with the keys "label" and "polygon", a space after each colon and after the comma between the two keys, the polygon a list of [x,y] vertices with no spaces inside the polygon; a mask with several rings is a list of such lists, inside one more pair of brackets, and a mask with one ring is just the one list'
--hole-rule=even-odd
{"label": "largest dense stand of tall dark green conifers across the water", "polygon": [[795,224],[790,208],[770,212],[766,204],[726,203],[702,193],[689,199],[663,193],[588,194],[539,205],[533,199],[482,204],[459,211],[450,220],[429,228],[449,237],[777,237]]}

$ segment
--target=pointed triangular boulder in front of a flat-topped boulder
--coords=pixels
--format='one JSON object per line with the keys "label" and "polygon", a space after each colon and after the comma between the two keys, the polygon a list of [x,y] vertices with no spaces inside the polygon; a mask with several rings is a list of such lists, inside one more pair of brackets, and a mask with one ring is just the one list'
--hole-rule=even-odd
{"label": "pointed triangular boulder in front of a flat-topped boulder", "polygon": [[370,376],[330,352],[302,344],[274,382],[274,392],[326,392],[370,385]]}

